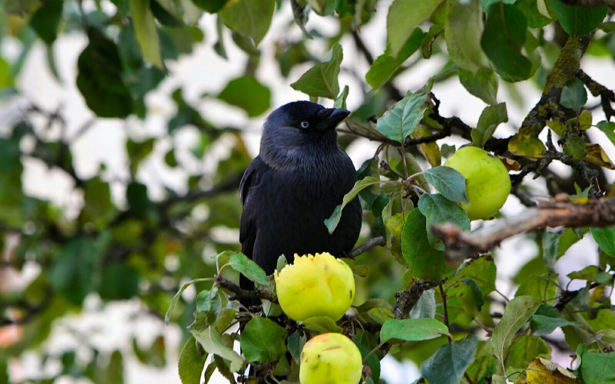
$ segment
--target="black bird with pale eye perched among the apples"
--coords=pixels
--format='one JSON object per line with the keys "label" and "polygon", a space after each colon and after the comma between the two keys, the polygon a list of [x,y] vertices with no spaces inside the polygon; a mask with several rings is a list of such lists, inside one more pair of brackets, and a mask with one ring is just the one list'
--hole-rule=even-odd
{"label": "black bird with pale eye perched among the apples", "polygon": [[[361,206],[346,205],[329,234],[331,216],[357,179],[350,157],[337,143],[336,125],[350,114],[309,101],[288,103],[264,122],[260,154],[241,180],[242,252],[269,275],[281,254],[328,252],[343,257],[361,229]],[[253,283],[241,276],[240,286]]]}

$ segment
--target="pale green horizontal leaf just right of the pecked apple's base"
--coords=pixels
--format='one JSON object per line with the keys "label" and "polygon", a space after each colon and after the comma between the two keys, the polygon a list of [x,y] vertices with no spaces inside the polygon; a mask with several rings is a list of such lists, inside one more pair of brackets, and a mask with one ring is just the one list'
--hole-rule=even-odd
{"label": "pale green horizontal leaf just right of the pecked apple's base", "polygon": [[407,342],[418,342],[435,339],[445,334],[448,334],[448,328],[442,321],[436,319],[389,319],[380,330],[380,340],[386,342],[391,339],[399,339]]}

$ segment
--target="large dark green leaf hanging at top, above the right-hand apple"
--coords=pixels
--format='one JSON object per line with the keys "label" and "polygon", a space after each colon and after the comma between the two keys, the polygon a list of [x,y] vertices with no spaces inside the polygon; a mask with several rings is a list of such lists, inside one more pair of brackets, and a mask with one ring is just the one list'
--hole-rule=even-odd
{"label": "large dark green leaf hanging at top, above the right-hand apple", "polygon": [[511,4],[491,4],[487,12],[485,31],[480,40],[493,69],[510,82],[531,76],[530,59],[523,56],[527,20],[523,12]]}

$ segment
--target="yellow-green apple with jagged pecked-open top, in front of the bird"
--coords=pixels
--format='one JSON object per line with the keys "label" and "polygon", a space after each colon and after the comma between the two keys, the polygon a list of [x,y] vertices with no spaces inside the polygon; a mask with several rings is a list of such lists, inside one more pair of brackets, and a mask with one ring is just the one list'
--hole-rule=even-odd
{"label": "yellow-green apple with jagged pecked-open top, in front of the bird", "polygon": [[289,318],[327,316],[338,321],[354,299],[351,268],[329,253],[299,256],[274,273],[277,300]]}

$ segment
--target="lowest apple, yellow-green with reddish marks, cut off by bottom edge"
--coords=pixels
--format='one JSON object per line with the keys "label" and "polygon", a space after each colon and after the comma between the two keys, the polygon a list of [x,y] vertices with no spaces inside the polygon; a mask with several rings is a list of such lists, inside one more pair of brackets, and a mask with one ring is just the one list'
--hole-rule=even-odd
{"label": "lowest apple, yellow-green with reddish marks, cut off by bottom edge", "polygon": [[358,384],[363,362],[359,348],[343,334],[313,337],[303,346],[301,384]]}

